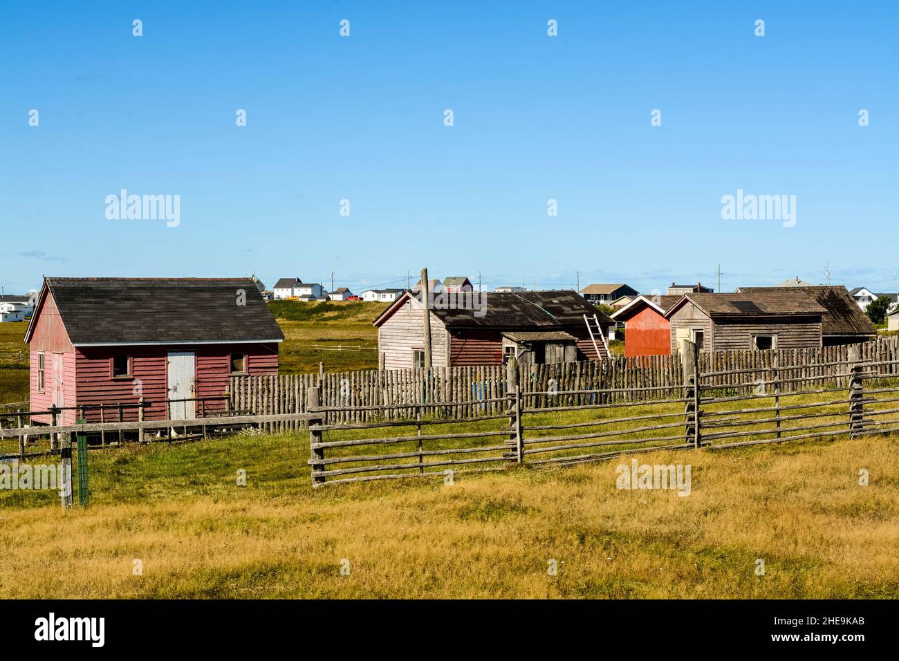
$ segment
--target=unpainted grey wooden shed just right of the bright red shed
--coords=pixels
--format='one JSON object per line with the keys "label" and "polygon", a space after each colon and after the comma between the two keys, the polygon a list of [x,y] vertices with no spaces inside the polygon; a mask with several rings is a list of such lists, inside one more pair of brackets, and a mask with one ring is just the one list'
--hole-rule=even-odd
{"label": "unpainted grey wooden shed just right of the bright red shed", "polygon": [[665,318],[671,324],[672,353],[679,351],[681,339],[698,344],[702,351],[761,351],[822,346],[826,312],[802,290],[790,288],[684,294]]}

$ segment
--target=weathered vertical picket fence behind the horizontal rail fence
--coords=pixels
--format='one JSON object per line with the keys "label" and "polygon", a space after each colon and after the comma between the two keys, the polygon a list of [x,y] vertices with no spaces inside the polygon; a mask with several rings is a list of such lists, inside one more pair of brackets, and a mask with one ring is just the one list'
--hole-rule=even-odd
{"label": "weathered vertical picket fence behind the horizontal rail fence", "polygon": [[[848,382],[841,367],[849,360],[850,346],[859,349],[860,360],[882,362],[876,368],[879,374],[899,375],[891,363],[899,358],[897,337],[820,349],[700,353],[696,368],[704,375],[703,385],[732,396],[751,391],[758,380],[769,380],[773,369],[780,372],[783,392],[797,390],[810,377],[820,377],[822,387],[837,388]],[[557,409],[661,401],[681,397],[682,386],[683,365],[675,354],[535,365],[521,374],[519,389],[529,406]],[[506,410],[510,394],[503,365],[365,370],[235,376],[230,406],[257,414],[302,413],[311,388],[320,389],[322,406],[329,409],[328,423],[407,419],[422,405],[440,407],[444,415],[457,418],[493,415]],[[280,424],[277,429],[299,425]]]}

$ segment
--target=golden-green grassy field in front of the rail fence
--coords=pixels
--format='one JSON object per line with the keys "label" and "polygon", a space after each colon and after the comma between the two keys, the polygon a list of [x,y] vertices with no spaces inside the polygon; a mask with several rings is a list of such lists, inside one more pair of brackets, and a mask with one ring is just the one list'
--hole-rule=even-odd
{"label": "golden-green grassy field in front of the rail fence", "polygon": [[306,434],[107,449],[87,509],[0,492],[0,597],[895,598],[896,441],[640,456],[687,497],[618,460],[313,491]]}

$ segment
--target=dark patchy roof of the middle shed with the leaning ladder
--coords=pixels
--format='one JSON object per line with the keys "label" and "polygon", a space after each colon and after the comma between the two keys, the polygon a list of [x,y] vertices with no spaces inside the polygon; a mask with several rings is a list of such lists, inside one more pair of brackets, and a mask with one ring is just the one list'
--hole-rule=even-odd
{"label": "dark patchy roof of the middle shed with the leaning ladder", "polygon": [[[472,299],[471,297],[476,297]],[[374,321],[375,326],[383,324],[405,301],[414,298],[411,292],[396,299]],[[432,308],[434,317],[441,320],[449,330],[463,328],[492,328],[497,330],[537,330],[561,329],[583,326],[583,315],[594,314],[601,325],[613,324],[610,317],[602,314],[590,303],[571,290],[563,291],[521,291],[483,293],[468,292],[458,294],[458,301],[476,301],[477,305],[466,305],[467,309]],[[484,314],[480,317],[481,310]]]}

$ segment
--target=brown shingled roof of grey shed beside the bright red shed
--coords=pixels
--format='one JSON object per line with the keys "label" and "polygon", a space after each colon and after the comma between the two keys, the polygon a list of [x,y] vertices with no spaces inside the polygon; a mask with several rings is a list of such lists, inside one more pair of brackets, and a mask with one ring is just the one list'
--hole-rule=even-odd
{"label": "brown shingled roof of grey shed beside the bright red shed", "polygon": [[672,314],[689,300],[713,319],[716,317],[792,317],[823,316],[826,310],[814,299],[793,288],[763,287],[752,292],[741,290],[733,294],[684,294],[665,313]]}

